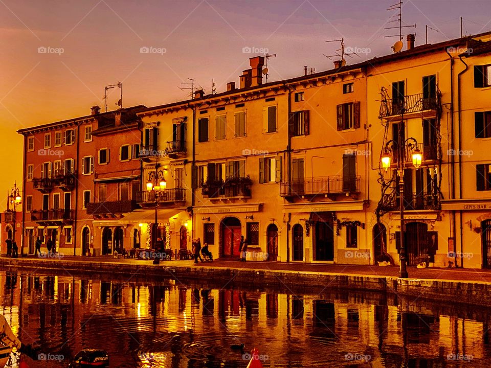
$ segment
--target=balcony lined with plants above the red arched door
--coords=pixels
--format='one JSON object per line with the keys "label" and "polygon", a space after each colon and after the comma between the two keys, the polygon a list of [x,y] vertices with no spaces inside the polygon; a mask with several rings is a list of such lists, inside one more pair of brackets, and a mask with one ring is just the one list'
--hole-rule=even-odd
{"label": "balcony lined with plants above the red arched door", "polygon": [[210,200],[234,200],[251,198],[252,181],[249,177],[233,177],[223,180],[207,180],[202,195]]}

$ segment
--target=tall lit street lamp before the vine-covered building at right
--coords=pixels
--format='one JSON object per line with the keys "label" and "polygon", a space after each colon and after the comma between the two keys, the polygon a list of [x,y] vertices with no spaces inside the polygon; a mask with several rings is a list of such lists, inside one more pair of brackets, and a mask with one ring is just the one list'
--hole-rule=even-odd
{"label": "tall lit street lamp before the vine-covered building at right", "polygon": [[404,241],[404,168],[406,166],[406,154],[405,149],[406,146],[411,149],[414,147],[411,159],[412,164],[415,169],[419,169],[421,166],[422,153],[418,148],[418,142],[413,137],[404,140],[405,132],[405,122],[404,116],[401,113],[401,122],[399,123],[399,142],[390,140],[386,143],[381,161],[382,167],[387,170],[391,164],[391,155],[390,152],[398,152],[398,175],[399,175],[399,211],[400,211],[400,250],[399,250],[399,278],[407,279],[408,278],[408,270],[407,270],[407,258],[406,258],[406,244]]}

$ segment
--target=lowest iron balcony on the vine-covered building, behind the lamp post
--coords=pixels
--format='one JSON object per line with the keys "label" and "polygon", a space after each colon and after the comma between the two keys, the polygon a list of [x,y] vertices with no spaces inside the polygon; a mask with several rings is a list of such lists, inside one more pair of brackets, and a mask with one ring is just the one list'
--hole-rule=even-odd
{"label": "lowest iron balcony on the vine-covered building, behind the lamp post", "polygon": [[[380,208],[385,211],[398,211],[400,209],[399,195],[396,190],[390,194],[384,194]],[[404,209],[407,211],[440,211],[441,210],[441,198],[439,194],[435,193],[405,193],[404,195]]]}

